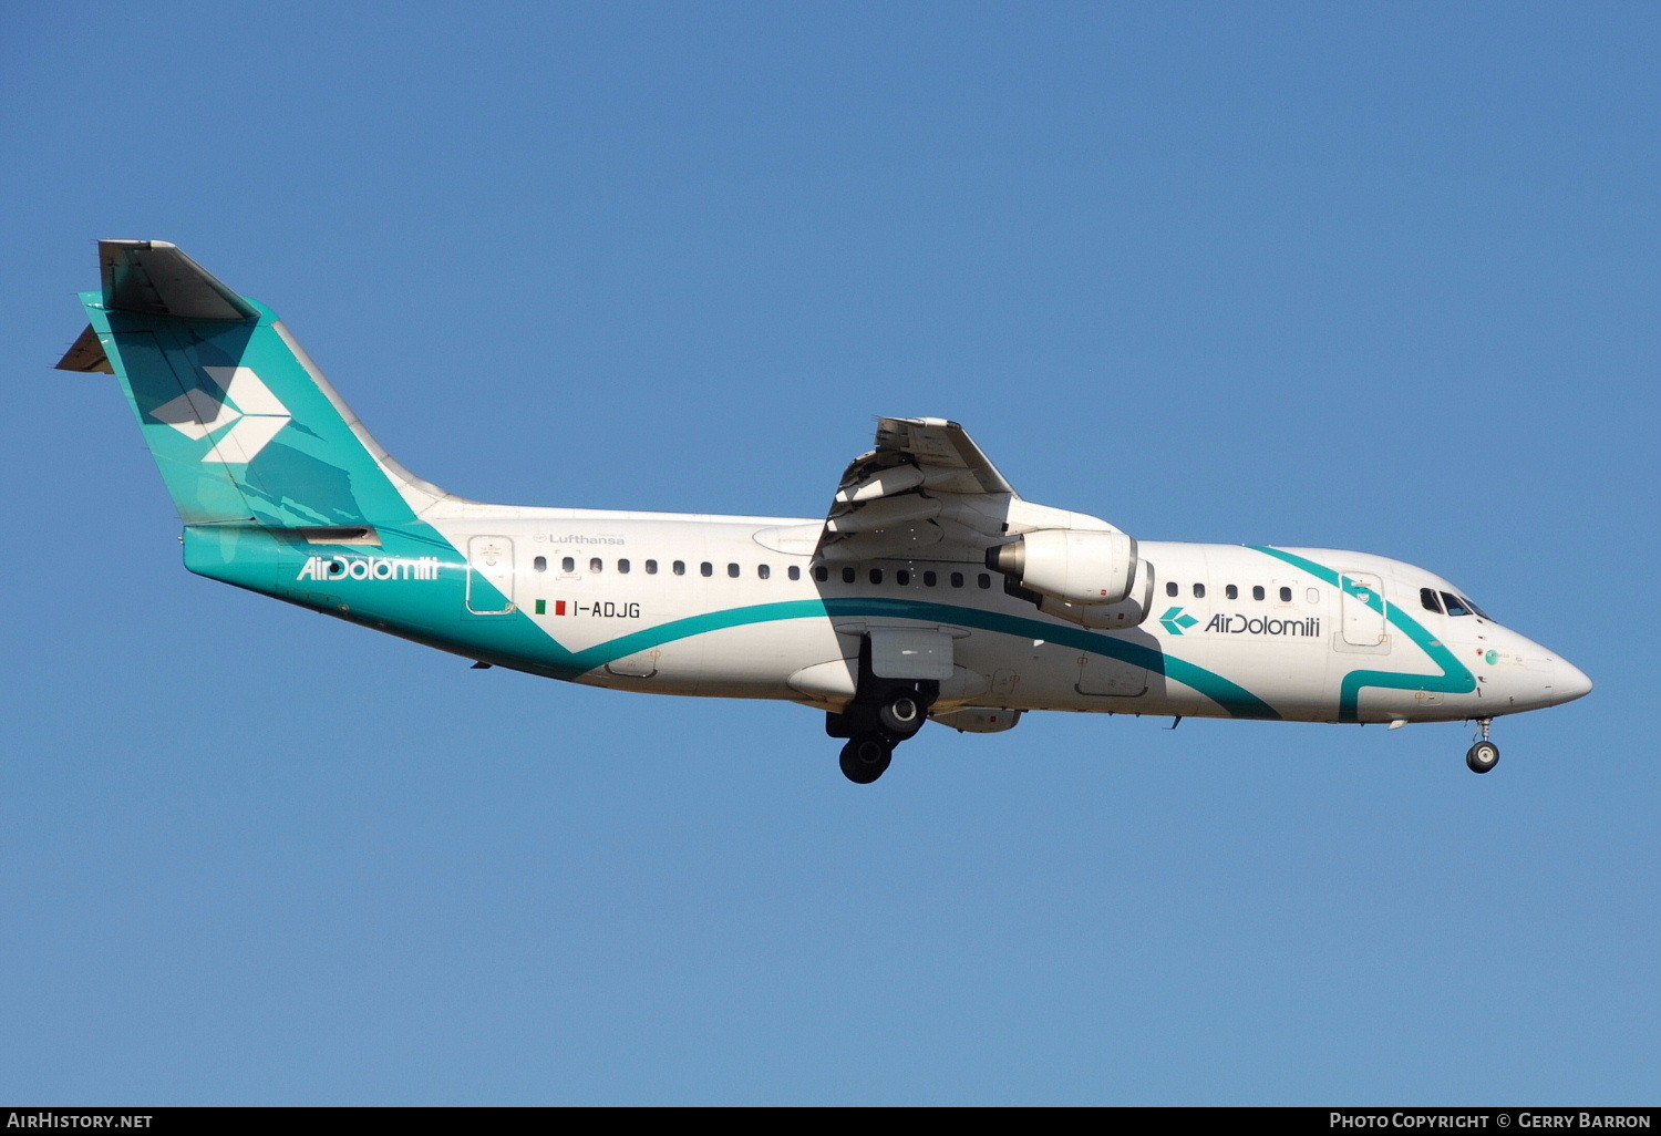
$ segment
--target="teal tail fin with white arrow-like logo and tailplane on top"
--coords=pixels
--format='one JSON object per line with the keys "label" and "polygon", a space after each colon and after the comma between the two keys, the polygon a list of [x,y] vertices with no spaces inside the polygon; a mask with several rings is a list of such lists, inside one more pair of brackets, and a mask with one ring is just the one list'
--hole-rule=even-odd
{"label": "teal tail fin with white arrow-like logo and tailplane on top", "polygon": [[166,241],[100,241],[58,367],[120,377],[186,525],[399,525],[447,493],[359,424],[276,314]]}

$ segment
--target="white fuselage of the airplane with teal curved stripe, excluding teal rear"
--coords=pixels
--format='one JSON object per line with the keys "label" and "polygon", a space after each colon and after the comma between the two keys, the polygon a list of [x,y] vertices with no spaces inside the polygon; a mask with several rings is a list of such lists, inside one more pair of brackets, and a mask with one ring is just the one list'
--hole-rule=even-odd
{"label": "white fuselage of the airplane with teal curved stripe, excluding teal rear", "polygon": [[[1492,619],[1427,608],[1423,590],[1460,595],[1440,576],[1367,553],[1141,541],[1154,573],[1148,616],[1088,631],[1008,595],[985,565],[822,565],[806,541],[782,550],[779,533],[819,528],[804,518],[477,512],[493,515],[434,525],[575,656],[580,669],[563,678],[596,686],[839,709],[872,628],[952,638],[942,711],[1447,721],[1551,706],[1585,683]],[[1134,653],[1095,649],[1103,641]],[[535,658],[487,661],[548,673]],[[1468,691],[1450,681],[1458,668]]]}

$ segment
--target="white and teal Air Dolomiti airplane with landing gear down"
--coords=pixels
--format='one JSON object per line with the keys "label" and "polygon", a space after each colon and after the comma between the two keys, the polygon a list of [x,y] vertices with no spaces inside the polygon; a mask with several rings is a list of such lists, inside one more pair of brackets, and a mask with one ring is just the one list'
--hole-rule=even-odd
{"label": "white and teal Air Dolomiti airplane with landing gear down", "polygon": [[264,304],[166,241],[100,241],[58,367],[120,379],[184,566],[377,631],[588,686],[824,712],[877,781],[927,722],[1028,711],[1473,721],[1591,679],[1423,568],[1136,540],[1025,500],[945,419],[879,419],[822,518],[488,505],[395,462]]}

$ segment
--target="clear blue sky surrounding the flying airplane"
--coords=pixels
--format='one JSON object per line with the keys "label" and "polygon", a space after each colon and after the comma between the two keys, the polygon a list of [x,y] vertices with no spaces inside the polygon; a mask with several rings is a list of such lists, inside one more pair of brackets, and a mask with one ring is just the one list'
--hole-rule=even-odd
{"label": "clear blue sky surrounding the flying airplane", "polygon": [[[1661,15],[12,5],[0,1098],[1653,1104]],[[98,237],[483,500],[821,515],[963,422],[1148,540],[1455,580],[1598,683],[1468,729],[797,706],[188,575]]]}

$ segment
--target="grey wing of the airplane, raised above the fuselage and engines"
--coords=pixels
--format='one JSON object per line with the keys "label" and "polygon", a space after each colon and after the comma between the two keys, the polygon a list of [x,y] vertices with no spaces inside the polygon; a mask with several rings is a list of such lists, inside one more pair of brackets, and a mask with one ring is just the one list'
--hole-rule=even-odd
{"label": "grey wing of the airplane, raised above the fuselage and engines", "polygon": [[1008,540],[1020,495],[955,422],[879,419],[877,448],[842,475],[819,533],[824,560],[927,556],[980,563]]}

